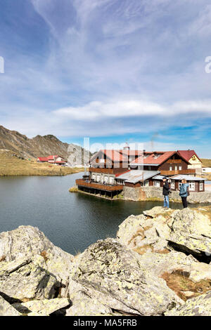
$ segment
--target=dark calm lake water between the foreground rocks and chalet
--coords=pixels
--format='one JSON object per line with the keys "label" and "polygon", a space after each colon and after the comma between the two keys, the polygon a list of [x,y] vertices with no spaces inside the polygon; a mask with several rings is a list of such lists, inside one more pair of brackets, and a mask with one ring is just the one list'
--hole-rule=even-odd
{"label": "dark calm lake water between the foreground rocks and chalet", "polygon": [[[82,173],[55,177],[0,178],[0,232],[32,225],[61,249],[75,254],[97,239],[115,237],[127,216],[162,205],[160,202],[109,201],[70,193]],[[174,209],[181,204],[170,204]]]}

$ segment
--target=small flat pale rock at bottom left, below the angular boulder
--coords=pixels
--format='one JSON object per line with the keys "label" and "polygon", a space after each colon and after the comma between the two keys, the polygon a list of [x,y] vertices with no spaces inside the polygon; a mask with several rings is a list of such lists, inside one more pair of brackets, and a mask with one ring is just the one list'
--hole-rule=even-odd
{"label": "small flat pale rock at bottom left, below the angular boulder", "polygon": [[[50,315],[62,308],[68,308],[70,301],[68,298],[44,299],[42,301],[27,301],[27,303],[14,303],[13,307],[22,314],[41,313]],[[31,315],[32,316],[32,315]]]}

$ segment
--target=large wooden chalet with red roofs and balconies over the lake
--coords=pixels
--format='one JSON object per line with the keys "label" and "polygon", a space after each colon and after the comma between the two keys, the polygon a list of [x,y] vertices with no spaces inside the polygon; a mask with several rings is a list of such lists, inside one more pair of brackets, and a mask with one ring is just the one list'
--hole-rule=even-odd
{"label": "large wooden chalet with red roofs and balconies over the lake", "polygon": [[[193,155],[192,155],[193,157]],[[179,190],[188,178],[191,192],[203,192],[204,180],[196,178],[184,152],[146,152],[138,150],[100,150],[90,160],[89,174],[76,180],[79,190],[113,197],[125,187],[162,187],[168,177],[172,190]]]}

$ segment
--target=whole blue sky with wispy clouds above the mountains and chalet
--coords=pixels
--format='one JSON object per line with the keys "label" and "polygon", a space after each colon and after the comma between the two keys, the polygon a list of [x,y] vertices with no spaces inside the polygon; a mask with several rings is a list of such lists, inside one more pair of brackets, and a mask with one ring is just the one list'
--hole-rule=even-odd
{"label": "whole blue sky with wispy clouds above the mountains and chalet", "polygon": [[0,125],[211,158],[210,37],[210,0],[0,0]]}

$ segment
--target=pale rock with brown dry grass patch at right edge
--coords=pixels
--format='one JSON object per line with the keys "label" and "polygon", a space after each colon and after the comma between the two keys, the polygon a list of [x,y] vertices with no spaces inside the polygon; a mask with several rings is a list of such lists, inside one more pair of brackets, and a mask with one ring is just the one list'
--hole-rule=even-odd
{"label": "pale rock with brown dry grass patch at right edge", "polygon": [[139,260],[147,270],[165,279],[167,286],[184,301],[211,289],[211,265],[199,263],[191,255],[148,251]]}

